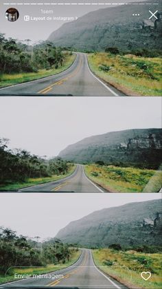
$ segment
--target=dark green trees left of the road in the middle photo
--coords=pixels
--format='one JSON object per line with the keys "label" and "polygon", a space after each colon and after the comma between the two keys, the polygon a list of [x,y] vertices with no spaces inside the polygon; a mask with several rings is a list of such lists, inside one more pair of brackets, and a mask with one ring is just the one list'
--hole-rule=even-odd
{"label": "dark green trees left of the road in the middle photo", "polygon": [[0,181],[11,183],[26,181],[34,177],[65,175],[70,165],[60,158],[46,158],[31,155],[27,150],[8,149],[8,139],[0,139]]}

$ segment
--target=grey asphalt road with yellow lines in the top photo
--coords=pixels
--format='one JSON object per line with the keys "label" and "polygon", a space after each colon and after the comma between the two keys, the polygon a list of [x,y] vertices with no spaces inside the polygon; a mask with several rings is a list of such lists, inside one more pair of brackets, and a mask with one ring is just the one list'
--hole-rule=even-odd
{"label": "grey asphalt road with yellow lines in the top photo", "polygon": [[0,95],[71,95],[85,97],[122,96],[112,86],[97,79],[86,59],[86,54],[77,53],[72,66],[51,77],[45,77],[28,83],[21,83],[8,88],[1,88]]}

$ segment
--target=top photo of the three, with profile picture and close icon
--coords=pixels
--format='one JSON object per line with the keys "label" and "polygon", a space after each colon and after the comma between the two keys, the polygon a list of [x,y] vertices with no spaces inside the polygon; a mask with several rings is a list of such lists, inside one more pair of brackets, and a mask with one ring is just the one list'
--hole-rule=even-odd
{"label": "top photo of the three, with profile picture and close icon", "polygon": [[100,2],[1,1],[0,95],[161,96],[161,0]]}

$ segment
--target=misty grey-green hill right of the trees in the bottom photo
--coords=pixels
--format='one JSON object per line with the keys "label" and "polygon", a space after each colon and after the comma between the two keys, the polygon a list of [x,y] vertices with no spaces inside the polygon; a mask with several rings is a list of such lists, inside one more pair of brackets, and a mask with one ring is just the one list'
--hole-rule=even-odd
{"label": "misty grey-green hill right of the trees in the bottom photo", "polygon": [[161,200],[127,203],[72,221],[56,237],[81,246],[161,244]]}

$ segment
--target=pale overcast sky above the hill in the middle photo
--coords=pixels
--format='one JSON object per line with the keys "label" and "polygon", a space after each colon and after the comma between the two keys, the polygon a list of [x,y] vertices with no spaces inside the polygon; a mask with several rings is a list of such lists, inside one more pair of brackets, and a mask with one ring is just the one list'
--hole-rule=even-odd
{"label": "pale overcast sky above the hill in the middle photo", "polygon": [[0,97],[0,137],[39,156],[131,128],[161,128],[161,97]]}

